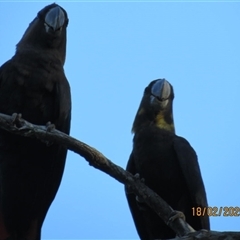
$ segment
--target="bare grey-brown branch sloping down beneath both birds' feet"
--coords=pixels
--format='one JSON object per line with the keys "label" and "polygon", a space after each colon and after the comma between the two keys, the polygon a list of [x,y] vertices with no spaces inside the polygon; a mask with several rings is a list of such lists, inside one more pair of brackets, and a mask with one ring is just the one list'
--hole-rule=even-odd
{"label": "bare grey-brown branch sloping down beneath both birds' feet", "polygon": [[[37,138],[46,143],[51,142],[64,145],[69,150],[84,157],[91,166],[107,173],[126,186],[131,187],[131,190],[137,196],[144,199],[144,201],[176,232],[179,237],[183,237],[176,239],[240,239],[240,233],[218,233],[211,231],[195,232],[195,230],[181,218],[177,218],[173,222],[169,221],[170,216],[174,213],[173,209],[155,192],[142,183],[139,178],[134,177],[129,172],[115,165],[96,149],[51,126],[34,125],[25,121],[17,114],[9,116],[0,113],[0,128],[17,135]],[[224,238],[225,235],[230,238]],[[235,236],[236,238],[234,238]]]}

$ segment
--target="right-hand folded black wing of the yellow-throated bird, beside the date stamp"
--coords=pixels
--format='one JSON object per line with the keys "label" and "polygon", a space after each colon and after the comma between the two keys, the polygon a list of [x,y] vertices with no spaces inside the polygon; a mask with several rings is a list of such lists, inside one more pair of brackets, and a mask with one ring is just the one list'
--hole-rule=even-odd
{"label": "right-hand folded black wing of the yellow-throated bird, beside the date stamp", "polygon": [[[189,142],[182,137],[176,136],[174,138],[173,144],[178,157],[180,168],[182,169],[182,173],[185,178],[189,194],[191,196],[191,208],[194,208],[196,210],[197,207],[201,207],[201,212],[203,213],[203,208],[206,208],[208,206],[208,203],[196,152],[191,147]],[[191,212],[191,217],[194,217],[194,212],[192,209]],[[200,217],[195,216],[194,219],[197,221],[197,226],[199,226],[201,229],[210,229],[209,217],[207,214]]]}

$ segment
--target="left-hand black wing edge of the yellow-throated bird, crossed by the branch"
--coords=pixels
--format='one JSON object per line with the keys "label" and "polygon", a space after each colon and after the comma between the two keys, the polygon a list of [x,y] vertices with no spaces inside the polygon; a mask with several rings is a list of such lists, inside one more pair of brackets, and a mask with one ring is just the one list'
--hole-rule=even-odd
{"label": "left-hand black wing edge of the yellow-throated bird, crossed by the branch", "polygon": [[[129,157],[126,170],[132,173],[133,175],[137,173],[135,164],[134,164],[133,153]],[[146,222],[145,222],[146,216],[144,216],[144,212],[141,211],[138,206],[138,203],[136,201],[136,195],[131,191],[131,188],[127,186],[125,186],[125,193],[126,193],[128,205],[132,213],[132,217],[133,217],[138,235],[140,236],[141,239],[148,239],[149,233],[148,233],[148,229],[146,227]]]}

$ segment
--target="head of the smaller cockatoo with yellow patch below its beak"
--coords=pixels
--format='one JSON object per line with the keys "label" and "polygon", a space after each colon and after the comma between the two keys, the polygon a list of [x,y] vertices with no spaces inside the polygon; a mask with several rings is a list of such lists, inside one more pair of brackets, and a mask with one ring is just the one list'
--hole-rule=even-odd
{"label": "head of the smaller cockatoo with yellow patch below its beak", "polygon": [[173,99],[173,87],[167,80],[152,81],[145,88],[133,122],[132,132],[136,133],[143,127],[150,125],[175,132],[172,112]]}

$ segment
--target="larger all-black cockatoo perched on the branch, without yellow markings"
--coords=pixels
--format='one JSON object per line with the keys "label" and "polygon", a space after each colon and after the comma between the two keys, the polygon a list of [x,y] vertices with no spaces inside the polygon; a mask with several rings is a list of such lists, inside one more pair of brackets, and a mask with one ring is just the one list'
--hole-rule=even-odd
{"label": "larger all-black cockatoo perched on the branch, without yellow markings", "polygon": [[[69,134],[70,87],[64,74],[68,16],[43,8],[0,68],[0,112],[22,113]],[[39,240],[61,182],[67,149],[0,130],[0,239]]]}

